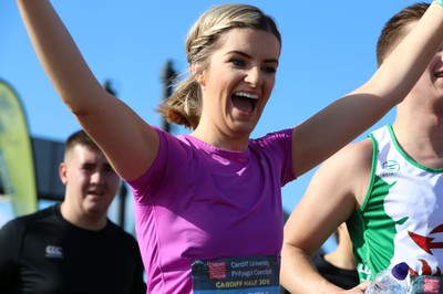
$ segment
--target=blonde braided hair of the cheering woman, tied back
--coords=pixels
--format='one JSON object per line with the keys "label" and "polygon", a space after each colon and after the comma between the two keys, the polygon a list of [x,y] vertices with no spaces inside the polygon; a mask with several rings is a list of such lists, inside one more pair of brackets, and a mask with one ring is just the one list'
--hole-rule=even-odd
{"label": "blonde braided hair of the cheering woman, tied back", "polygon": [[[185,42],[189,69],[198,64],[198,73],[207,69],[209,56],[220,45],[222,36],[231,29],[250,28],[281,35],[274,19],[248,4],[214,6],[190,28]],[[194,73],[196,74],[196,73]],[[195,129],[202,115],[202,91],[194,75],[178,83],[171,97],[157,109],[169,123]]]}

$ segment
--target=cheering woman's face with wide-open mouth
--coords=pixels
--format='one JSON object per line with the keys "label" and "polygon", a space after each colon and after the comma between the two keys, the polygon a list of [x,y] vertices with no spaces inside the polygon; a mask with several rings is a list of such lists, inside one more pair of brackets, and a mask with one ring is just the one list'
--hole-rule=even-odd
{"label": "cheering woman's face with wide-open mouth", "polygon": [[223,137],[249,137],[272,92],[280,42],[270,32],[233,29],[219,40],[202,86],[200,124]]}

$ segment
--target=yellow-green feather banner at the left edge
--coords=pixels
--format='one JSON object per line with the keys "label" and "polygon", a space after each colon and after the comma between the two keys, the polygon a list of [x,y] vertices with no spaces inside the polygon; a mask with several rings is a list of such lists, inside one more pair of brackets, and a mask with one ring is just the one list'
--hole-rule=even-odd
{"label": "yellow-green feather banner at the left edge", "polygon": [[37,210],[31,137],[16,92],[0,80],[0,180],[16,216]]}

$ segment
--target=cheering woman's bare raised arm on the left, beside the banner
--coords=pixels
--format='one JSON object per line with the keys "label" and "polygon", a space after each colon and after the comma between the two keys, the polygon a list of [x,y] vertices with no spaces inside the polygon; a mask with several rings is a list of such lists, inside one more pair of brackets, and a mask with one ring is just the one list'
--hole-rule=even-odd
{"label": "cheering woman's bare raised arm on the left, beside the banner", "polygon": [[156,132],[97,82],[49,1],[17,2],[35,53],[64,104],[121,177],[142,176],[158,151]]}

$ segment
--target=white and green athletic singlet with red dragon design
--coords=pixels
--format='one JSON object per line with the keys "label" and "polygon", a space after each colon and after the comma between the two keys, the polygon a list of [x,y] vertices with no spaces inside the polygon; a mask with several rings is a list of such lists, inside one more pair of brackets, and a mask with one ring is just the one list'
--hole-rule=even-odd
{"label": "white and green athletic singlet with red dragon design", "polygon": [[443,168],[415,162],[392,126],[372,134],[371,182],[360,210],[348,220],[360,281],[406,262],[411,274],[441,275]]}

